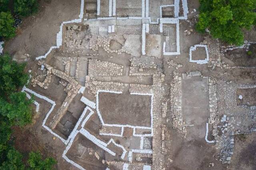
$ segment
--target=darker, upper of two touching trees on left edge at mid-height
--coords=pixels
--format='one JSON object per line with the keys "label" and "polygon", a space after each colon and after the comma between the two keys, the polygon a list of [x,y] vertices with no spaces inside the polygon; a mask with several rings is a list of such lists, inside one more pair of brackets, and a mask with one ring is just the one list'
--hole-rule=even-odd
{"label": "darker, upper of two touching trees on left edge at mid-height", "polygon": [[0,55],[0,96],[11,94],[28,81],[28,74],[24,72],[26,64],[12,61],[8,54]]}

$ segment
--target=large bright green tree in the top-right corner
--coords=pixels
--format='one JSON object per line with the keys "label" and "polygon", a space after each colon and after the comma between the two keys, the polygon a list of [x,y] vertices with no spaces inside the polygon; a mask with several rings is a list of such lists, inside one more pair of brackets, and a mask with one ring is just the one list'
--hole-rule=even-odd
{"label": "large bright green tree in the top-right corner", "polygon": [[256,0],[200,0],[200,14],[196,28],[206,29],[214,38],[229,44],[241,45],[242,29],[250,29],[256,22]]}

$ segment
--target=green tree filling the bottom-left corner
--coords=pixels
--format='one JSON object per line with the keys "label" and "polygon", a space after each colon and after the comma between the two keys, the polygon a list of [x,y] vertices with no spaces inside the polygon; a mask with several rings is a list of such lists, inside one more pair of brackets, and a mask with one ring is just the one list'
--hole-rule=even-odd
{"label": "green tree filling the bottom-left corner", "polygon": [[0,166],[0,170],[24,170],[25,166],[22,162],[22,154],[14,148],[8,150],[7,159]]}

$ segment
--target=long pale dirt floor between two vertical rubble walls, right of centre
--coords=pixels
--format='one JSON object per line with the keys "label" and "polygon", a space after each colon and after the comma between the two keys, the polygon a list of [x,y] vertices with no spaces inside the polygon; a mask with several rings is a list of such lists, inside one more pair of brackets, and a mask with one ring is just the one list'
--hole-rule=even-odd
{"label": "long pale dirt floor between two vertical rubble walls, right of centre", "polygon": [[208,79],[195,76],[182,81],[182,114],[187,128],[187,140],[204,139],[208,121]]}

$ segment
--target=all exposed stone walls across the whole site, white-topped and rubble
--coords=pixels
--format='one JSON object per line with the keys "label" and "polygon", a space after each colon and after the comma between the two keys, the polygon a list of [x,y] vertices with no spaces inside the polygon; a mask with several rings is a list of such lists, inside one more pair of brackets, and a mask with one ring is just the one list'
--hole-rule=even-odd
{"label": "all exposed stone walls across the whole site, white-topped and rubble", "polygon": [[[182,2],[182,9],[183,10],[183,16],[179,16],[180,12],[180,1]],[[116,156],[118,153],[111,149],[110,145],[114,145],[115,147],[118,147],[118,149],[122,150],[122,154],[120,156],[122,161],[115,162],[115,161],[109,161],[108,163],[118,165],[118,167],[121,167],[123,170],[133,169],[134,166],[136,166],[136,162],[134,160],[140,160],[140,156],[134,156],[134,155],[146,155],[147,158],[150,158],[152,163],[148,162],[142,162],[138,167],[143,168],[143,170],[150,170],[152,169],[162,169],[163,162],[161,160],[164,159],[163,154],[166,152],[165,143],[164,140],[166,139],[165,131],[166,131],[166,125],[163,125],[161,122],[162,118],[167,117],[168,111],[170,111],[172,115],[172,127],[175,129],[178,129],[183,134],[186,134],[186,127],[190,125],[186,125],[183,119],[182,115],[182,79],[190,78],[192,76],[201,76],[201,73],[198,71],[189,72],[187,74],[185,73],[179,73],[177,70],[178,68],[182,67],[182,64],[174,63],[172,60],[168,61],[167,64],[170,67],[176,68],[173,73],[173,82],[170,84],[170,100],[165,101],[163,100],[164,96],[164,90],[162,83],[164,82],[164,74],[163,70],[159,67],[161,62],[158,61],[157,57],[147,57],[144,55],[147,55],[147,33],[150,32],[151,26],[157,26],[160,33],[164,33],[166,30],[166,25],[175,25],[174,28],[176,30],[176,33],[174,36],[176,36],[176,42],[175,42],[175,48],[174,51],[169,51],[168,48],[168,41],[170,37],[165,36],[165,40],[162,42],[160,49],[161,55],[180,55],[180,20],[187,20],[187,14],[188,14],[188,4],[187,0],[174,0],[174,4],[167,4],[167,5],[161,5],[159,6],[160,10],[160,16],[156,19],[156,21],[152,21],[149,16],[149,0],[142,0],[142,13],[141,16],[128,16],[128,17],[117,17],[116,13],[116,0],[109,0],[108,1],[108,17],[99,17],[101,14],[101,2],[100,0],[97,0],[97,18],[94,19],[88,19],[84,18],[84,0],[81,0],[81,8],[80,8],[80,15],[78,19],[71,20],[71,21],[64,21],[60,25],[60,31],[57,33],[56,37],[56,46],[50,47],[49,51],[43,56],[39,56],[36,59],[38,61],[38,65],[40,66],[40,70],[43,72],[43,74],[35,75],[34,78],[32,78],[32,86],[39,86],[44,89],[48,89],[51,82],[52,77],[57,76],[58,78],[61,78],[62,80],[59,82],[64,86],[64,92],[67,93],[66,98],[62,102],[61,106],[56,108],[56,102],[53,100],[42,96],[33,90],[30,90],[24,86],[22,89],[23,92],[26,92],[26,96],[28,98],[31,98],[31,95],[36,96],[36,98],[45,100],[46,102],[51,104],[51,108],[46,114],[46,117],[42,123],[42,126],[48,130],[52,135],[60,139],[65,145],[66,149],[64,150],[62,157],[75,166],[76,168],[79,168],[81,170],[84,170],[86,167],[83,167],[82,164],[78,164],[78,162],[75,162],[72,160],[72,158],[68,157],[68,151],[74,144],[74,141],[76,141],[76,138],[78,135],[83,135],[91,141],[93,144],[95,144],[100,149],[104,150],[108,154],[112,156]],[[166,7],[173,7],[174,9],[174,17],[173,18],[163,18],[163,8]],[[111,41],[115,39],[116,35],[114,35],[115,32],[118,31],[118,25],[116,25],[116,22],[114,20],[136,20],[136,21],[142,21],[142,25],[139,28],[139,31],[141,35],[138,36],[138,39],[140,39],[141,44],[139,46],[139,52],[140,55],[144,57],[134,57],[130,58],[129,64],[121,65],[112,63],[113,61],[101,61],[97,59],[100,54],[86,54],[86,56],[92,56],[92,58],[86,58],[86,61],[82,61],[80,57],[66,57],[62,58],[62,64],[63,72],[56,69],[55,67],[52,67],[46,62],[41,61],[40,59],[45,59],[52,51],[53,49],[62,48],[65,46],[66,48],[70,49],[70,51],[73,52],[73,54],[79,54],[81,52],[84,52],[85,49],[82,49],[82,47],[86,46],[89,42],[89,45],[86,46],[88,50],[95,52],[102,50],[104,53],[109,54],[108,57],[111,58],[111,53],[116,53],[118,55],[125,54],[132,54],[134,51],[133,47],[128,47],[125,45],[122,45],[120,49],[111,49]],[[106,29],[106,33],[108,36],[100,36],[96,35],[96,33],[93,33],[93,30],[88,26],[88,23],[90,22],[98,22],[98,21],[108,21],[108,25],[104,28]],[[77,25],[72,25],[71,23],[77,23]],[[81,23],[84,23],[82,25]],[[63,27],[64,25],[68,25],[67,27]],[[87,24],[87,25],[86,25]],[[66,28],[66,30],[64,30]],[[80,34],[81,30],[84,31],[84,35]],[[62,33],[63,31],[63,33]],[[95,31],[95,30],[94,30]],[[65,34],[65,36],[63,35]],[[78,37],[83,37],[82,39],[78,39]],[[63,38],[65,37],[65,38]],[[125,37],[125,36],[124,36]],[[63,43],[63,44],[62,44]],[[245,48],[248,49],[248,47],[253,44],[254,42],[245,42],[244,45],[241,47],[228,47],[224,49],[224,51],[227,50],[233,50],[236,48]],[[1,45],[1,43],[0,43]],[[197,48],[203,47],[205,49],[205,59],[202,60],[194,60],[194,56],[192,53],[196,52]],[[209,48],[209,51],[208,51]],[[80,50],[81,51],[77,51]],[[1,49],[0,49],[1,50]],[[1,51],[0,51],[1,52]],[[68,50],[67,50],[68,52]],[[212,66],[213,68],[218,65],[222,65],[220,61],[213,61],[209,59],[209,53],[210,53],[210,47],[206,45],[206,43],[194,45],[190,47],[189,51],[189,61],[196,64],[206,64],[208,63],[209,66]],[[219,60],[219,59],[218,59]],[[76,71],[79,68],[81,68],[82,65],[81,62],[88,62],[88,70],[86,71],[86,80],[84,82],[84,85],[81,86],[78,83],[79,80],[79,73]],[[72,63],[75,63],[75,72],[72,72],[71,74],[71,65]],[[134,78],[134,83],[126,83],[120,81],[121,78],[127,79]],[[96,78],[116,78],[120,82],[114,82],[110,80],[109,82],[104,82],[97,80]],[[138,83],[140,79],[142,78],[150,78],[152,79],[151,84],[143,84]],[[110,79],[111,79],[110,78]],[[120,78],[120,79],[118,79]],[[218,158],[223,163],[230,163],[231,156],[233,154],[233,147],[234,147],[234,134],[239,134],[241,132],[234,131],[232,128],[232,123],[229,123],[230,119],[236,119],[236,117],[229,117],[229,115],[224,115],[222,120],[218,120],[216,117],[216,112],[218,110],[217,108],[217,91],[218,91],[218,82],[217,80],[214,80],[214,78],[210,77],[204,77],[208,79],[208,95],[209,95],[209,118],[208,122],[206,122],[206,133],[205,133],[205,141],[209,144],[215,143],[216,147],[220,149],[220,153],[218,155]],[[43,79],[43,80],[42,80]],[[234,85],[233,88],[230,90],[232,94],[234,93],[234,89],[238,88],[240,86]],[[244,85],[240,88],[253,88],[255,86],[251,85]],[[99,93],[105,92],[109,94],[123,94],[123,92],[129,89],[128,92],[131,96],[138,95],[138,96],[150,96],[150,126],[138,126],[138,125],[122,125],[122,124],[108,124],[104,122],[104,119],[102,118],[102,113],[100,113],[99,109]],[[54,132],[54,128],[56,128],[58,122],[64,117],[65,113],[68,111],[68,107],[70,106],[70,103],[72,100],[76,97],[77,94],[84,94],[84,91],[93,94],[94,98],[90,98],[87,96],[82,96],[80,98],[80,102],[84,103],[86,107],[84,108],[82,114],[78,118],[78,121],[74,125],[74,128],[72,129],[70,135],[68,135],[67,139],[64,139],[64,137],[61,137],[57,133]],[[234,95],[233,95],[234,97]],[[232,98],[234,100],[234,98]],[[171,103],[170,109],[168,109],[168,102]],[[234,101],[233,101],[234,102]],[[36,101],[34,101],[34,104],[36,105],[36,111],[38,112],[40,110],[40,104]],[[234,106],[235,107],[235,106]],[[250,108],[247,108],[247,106],[242,106],[242,108],[250,109],[250,114],[255,113],[255,106],[251,106]],[[56,112],[55,115],[51,115],[53,110]],[[160,114],[159,114],[160,113]],[[51,119],[49,117],[52,116]],[[94,135],[89,129],[86,129],[86,125],[88,125],[88,121],[92,119],[92,117],[98,117],[100,121],[100,125],[102,128],[99,130],[99,135],[103,137],[109,137],[108,140],[103,141],[98,136]],[[50,122],[48,125],[46,125],[46,121]],[[139,120],[140,121],[140,120]],[[221,126],[220,123],[223,125]],[[214,140],[210,141],[208,140],[208,134],[209,134],[209,125],[213,125],[212,135],[214,136]],[[115,137],[124,137],[124,129],[125,128],[131,128],[132,129],[132,137],[139,137],[139,148],[128,148],[122,143],[116,142],[114,139]],[[140,129],[146,129],[147,131],[150,131],[150,133],[138,133]],[[250,129],[250,131],[254,131],[254,129]],[[219,132],[222,132],[222,135],[218,135]],[[244,129],[243,133],[249,133],[248,129]],[[95,152],[96,153],[96,152]],[[98,154],[95,155],[96,158],[99,157]],[[134,158],[135,157],[135,158]],[[98,159],[99,160],[99,159]],[[106,168],[109,169],[109,168]]]}

